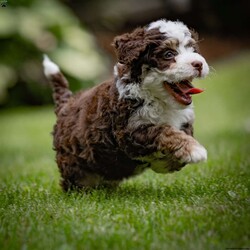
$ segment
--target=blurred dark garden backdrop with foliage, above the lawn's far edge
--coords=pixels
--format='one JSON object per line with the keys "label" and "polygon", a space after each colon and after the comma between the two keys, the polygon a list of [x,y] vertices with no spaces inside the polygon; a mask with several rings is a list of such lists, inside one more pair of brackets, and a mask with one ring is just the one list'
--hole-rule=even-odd
{"label": "blurred dark garden backdrop with foliage, above the lawn's far edge", "polygon": [[249,17],[248,0],[0,0],[0,108],[52,103],[43,54],[78,90],[110,77],[118,34],[178,19],[213,65],[250,49]]}

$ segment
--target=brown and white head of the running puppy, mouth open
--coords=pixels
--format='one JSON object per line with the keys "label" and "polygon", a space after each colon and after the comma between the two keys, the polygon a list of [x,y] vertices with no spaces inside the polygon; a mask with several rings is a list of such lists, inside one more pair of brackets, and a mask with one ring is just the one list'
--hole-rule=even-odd
{"label": "brown and white head of the running puppy, mouth open", "polygon": [[165,20],[116,37],[115,75],[120,95],[131,92],[131,96],[140,88],[172,104],[191,104],[191,95],[202,92],[193,87],[192,80],[209,73],[206,60],[199,54],[197,40],[197,34],[182,22]]}

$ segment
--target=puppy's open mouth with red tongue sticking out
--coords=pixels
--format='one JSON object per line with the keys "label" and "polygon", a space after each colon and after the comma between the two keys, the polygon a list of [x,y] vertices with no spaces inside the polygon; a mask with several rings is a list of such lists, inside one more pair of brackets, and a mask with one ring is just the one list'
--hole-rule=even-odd
{"label": "puppy's open mouth with red tongue sticking out", "polygon": [[189,80],[183,80],[177,83],[163,83],[164,88],[183,105],[192,103],[191,95],[202,93],[204,90],[195,88]]}

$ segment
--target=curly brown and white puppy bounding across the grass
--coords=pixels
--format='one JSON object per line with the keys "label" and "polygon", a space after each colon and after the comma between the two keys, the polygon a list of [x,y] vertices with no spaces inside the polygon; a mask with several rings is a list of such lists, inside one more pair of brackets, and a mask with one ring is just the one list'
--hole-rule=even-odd
{"label": "curly brown and white puppy bounding across the grass", "polygon": [[54,149],[64,190],[116,185],[146,168],[167,173],[206,160],[193,137],[191,81],[209,67],[197,35],[159,20],[113,43],[114,78],[72,95],[58,66],[44,58],[57,122]]}

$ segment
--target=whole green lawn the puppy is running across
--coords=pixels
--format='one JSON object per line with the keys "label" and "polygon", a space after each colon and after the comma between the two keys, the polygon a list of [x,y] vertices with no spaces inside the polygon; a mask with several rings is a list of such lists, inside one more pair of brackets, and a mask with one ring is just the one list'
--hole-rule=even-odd
{"label": "whole green lawn the puppy is running across", "polygon": [[117,190],[65,194],[52,108],[0,113],[0,249],[250,248],[250,54],[213,65],[195,96],[208,161]]}

